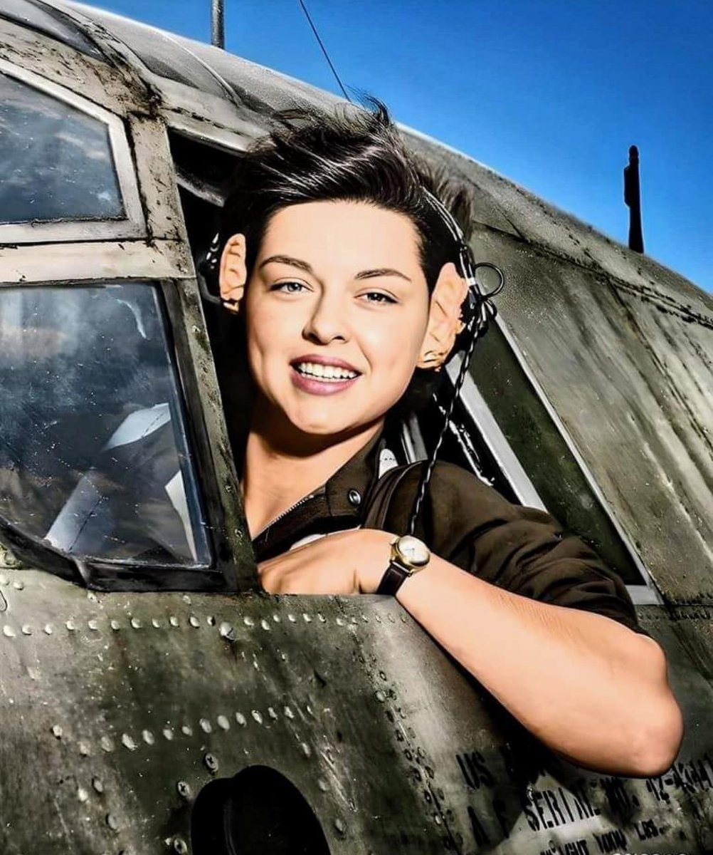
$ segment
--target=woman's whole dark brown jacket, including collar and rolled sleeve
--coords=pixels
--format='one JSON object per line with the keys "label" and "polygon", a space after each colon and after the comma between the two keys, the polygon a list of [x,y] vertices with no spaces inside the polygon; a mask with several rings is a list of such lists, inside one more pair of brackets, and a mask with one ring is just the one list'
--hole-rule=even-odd
{"label": "woman's whole dark brown jacket, including collar and rolled sleeve", "polygon": [[[365,521],[377,481],[383,431],[253,540],[258,562],[301,540]],[[425,465],[425,464],[424,464]],[[421,467],[409,471],[389,501],[383,529],[405,534]],[[431,551],[507,591],[541,602],[593,611],[649,635],[641,628],[619,576],[587,544],[567,534],[542,510],[511,504],[493,487],[453,463],[438,461],[414,533]],[[384,569],[388,556],[384,556]]]}

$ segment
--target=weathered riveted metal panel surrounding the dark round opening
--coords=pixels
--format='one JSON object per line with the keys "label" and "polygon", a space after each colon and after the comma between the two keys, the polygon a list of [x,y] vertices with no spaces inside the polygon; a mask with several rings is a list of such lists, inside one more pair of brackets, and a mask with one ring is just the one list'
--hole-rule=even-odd
{"label": "weathered riveted metal panel surrounding the dark round opening", "polygon": [[295,783],[332,852],[441,852],[336,600],[96,596],[4,572],[3,852],[165,852],[201,788],[251,764]]}

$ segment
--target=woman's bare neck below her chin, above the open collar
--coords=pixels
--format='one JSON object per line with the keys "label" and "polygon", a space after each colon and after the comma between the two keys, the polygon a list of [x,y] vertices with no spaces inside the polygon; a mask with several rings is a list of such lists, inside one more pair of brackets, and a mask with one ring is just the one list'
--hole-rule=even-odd
{"label": "woman's bare neck below her chin, above the open collar", "polygon": [[354,457],[383,426],[383,419],[363,429],[333,437],[301,436],[292,427],[288,439],[276,431],[256,405],[248,430],[243,460],[243,507],[250,537],[295,502],[318,489]]}

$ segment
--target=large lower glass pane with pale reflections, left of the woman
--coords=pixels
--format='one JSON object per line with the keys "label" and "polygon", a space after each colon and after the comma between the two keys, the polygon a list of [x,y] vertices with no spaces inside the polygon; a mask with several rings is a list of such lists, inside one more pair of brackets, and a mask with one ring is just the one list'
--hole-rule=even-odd
{"label": "large lower glass pane with pale reflections, left of the woman", "polygon": [[0,288],[0,516],[75,557],[207,566],[159,293]]}

